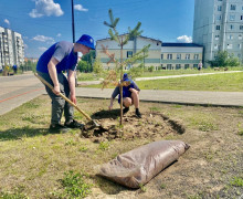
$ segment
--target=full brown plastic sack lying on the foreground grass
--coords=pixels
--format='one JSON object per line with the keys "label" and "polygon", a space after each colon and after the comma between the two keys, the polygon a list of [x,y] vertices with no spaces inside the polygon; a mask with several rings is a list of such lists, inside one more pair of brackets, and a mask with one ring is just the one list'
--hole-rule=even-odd
{"label": "full brown plastic sack lying on the foreground grass", "polygon": [[189,145],[181,140],[154,142],[98,166],[99,176],[129,188],[139,188],[176,161]]}

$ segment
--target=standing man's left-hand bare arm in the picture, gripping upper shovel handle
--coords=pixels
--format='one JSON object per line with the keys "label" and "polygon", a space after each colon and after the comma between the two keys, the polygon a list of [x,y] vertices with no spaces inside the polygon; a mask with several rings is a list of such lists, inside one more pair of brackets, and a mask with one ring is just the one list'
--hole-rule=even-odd
{"label": "standing man's left-hand bare arm in the picture, gripping upper shovel handle", "polygon": [[52,92],[56,95],[60,94],[60,85],[59,80],[56,75],[56,65],[59,64],[59,61],[55,57],[52,57],[47,64],[49,74],[52,78],[52,82],[54,84],[54,90]]}

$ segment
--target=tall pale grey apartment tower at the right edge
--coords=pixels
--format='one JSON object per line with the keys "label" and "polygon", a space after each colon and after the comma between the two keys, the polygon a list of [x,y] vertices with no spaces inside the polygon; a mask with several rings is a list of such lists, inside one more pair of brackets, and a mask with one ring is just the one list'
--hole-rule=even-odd
{"label": "tall pale grey apartment tower at the right edge", "polygon": [[194,0],[193,43],[203,45],[204,61],[218,51],[243,61],[243,0]]}

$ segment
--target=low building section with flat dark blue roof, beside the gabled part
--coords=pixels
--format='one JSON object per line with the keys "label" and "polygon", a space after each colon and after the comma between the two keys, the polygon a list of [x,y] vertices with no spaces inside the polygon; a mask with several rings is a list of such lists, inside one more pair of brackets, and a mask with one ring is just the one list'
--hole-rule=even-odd
{"label": "low building section with flat dark blue roof, beside the gabled part", "polygon": [[202,61],[203,46],[194,43],[162,43],[161,66],[163,70],[198,67]]}

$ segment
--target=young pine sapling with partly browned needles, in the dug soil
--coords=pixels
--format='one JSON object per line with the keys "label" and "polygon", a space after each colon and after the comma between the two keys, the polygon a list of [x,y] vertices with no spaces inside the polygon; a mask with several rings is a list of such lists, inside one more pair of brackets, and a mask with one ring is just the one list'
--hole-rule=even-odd
{"label": "young pine sapling with partly browned needles, in the dug soil", "polygon": [[[110,70],[108,72],[107,77],[103,82],[103,87],[107,86],[108,84],[116,84],[119,85],[119,91],[120,91],[120,125],[123,125],[123,75],[124,75],[124,66],[128,64],[134,64],[137,61],[144,60],[145,56],[148,55],[148,49],[150,45],[144,46],[139,52],[135,53],[133,57],[129,57],[127,60],[123,59],[123,49],[124,45],[128,43],[129,40],[136,39],[138,35],[141,34],[142,31],[140,31],[140,25],[141,23],[138,22],[137,25],[131,30],[128,28],[128,33],[120,35],[116,29],[117,23],[119,22],[119,18],[115,18],[113,15],[112,9],[108,11],[109,14],[109,23],[104,22],[105,25],[109,28],[108,34],[110,35],[110,39],[116,41],[118,43],[118,46],[120,46],[120,61],[115,59],[115,54],[110,54],[107,46],[103,45],[103,52],[110,59],[108,63],[114,62],[115,63],[115,69]],[[119,75],[119,83],[118,83],[118,75]]]}

